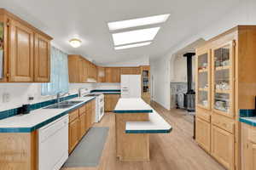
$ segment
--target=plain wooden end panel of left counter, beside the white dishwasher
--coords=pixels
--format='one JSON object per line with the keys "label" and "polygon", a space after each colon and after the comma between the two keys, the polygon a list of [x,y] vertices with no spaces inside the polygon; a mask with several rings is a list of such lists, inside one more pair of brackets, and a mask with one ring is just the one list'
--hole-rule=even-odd
{"label": "plain wooden end panel of left counter, beside the white dishwasher", "polygon": [[0,169],[38,169],[38,132],[0,133]]}

